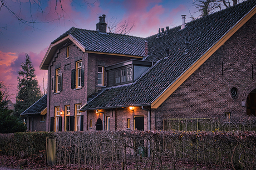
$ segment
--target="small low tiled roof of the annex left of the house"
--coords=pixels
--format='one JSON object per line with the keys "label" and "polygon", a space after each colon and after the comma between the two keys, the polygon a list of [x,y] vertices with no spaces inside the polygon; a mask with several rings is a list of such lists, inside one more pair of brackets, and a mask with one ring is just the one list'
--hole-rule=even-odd
{"label": "small low tiled roof of the annex left of the house", "polygon": [[47,94],[42,96],[41,99],[37,100],[35,104],[28,107],[27,110],[22,112],[21,116],[24,115],[40,115],[43,110],[45,110],[47,107]]}

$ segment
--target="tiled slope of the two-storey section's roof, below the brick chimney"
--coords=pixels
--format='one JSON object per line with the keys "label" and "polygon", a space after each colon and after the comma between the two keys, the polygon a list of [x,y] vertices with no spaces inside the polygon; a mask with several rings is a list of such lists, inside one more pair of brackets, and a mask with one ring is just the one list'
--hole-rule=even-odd
{"label": "tiled slope of the two-storey section's roof, below the brick chimney", "polygon": [[97,30],[79,29],[75,27],[62,34],[51,44],[67,37],[67,35],[72,35],[76,38],[87,51],[136,56],[144,56],[145,54],[145,38],[123,34],[101,33]]}

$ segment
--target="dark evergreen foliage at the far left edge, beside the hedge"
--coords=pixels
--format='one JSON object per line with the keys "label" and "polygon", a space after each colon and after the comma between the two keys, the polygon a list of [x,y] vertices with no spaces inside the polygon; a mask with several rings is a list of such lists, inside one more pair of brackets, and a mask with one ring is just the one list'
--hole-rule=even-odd
{"label": "dark evergreen foliage at the far left edge, beside the hedge", "polygon": [[3,100],[2,84],[0,83],[0,133],[24,132],[27,127],[17,117],[12,116],[13,110],[7,109],[7,102]]}

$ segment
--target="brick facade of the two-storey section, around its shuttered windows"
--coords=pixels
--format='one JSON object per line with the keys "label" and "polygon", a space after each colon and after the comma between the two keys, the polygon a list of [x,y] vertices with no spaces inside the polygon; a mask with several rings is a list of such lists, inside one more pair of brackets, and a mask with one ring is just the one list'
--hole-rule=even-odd
{"label": "brick facade of the two-storey section, around its shuttered windows", "polygon": [[[69,45],[70,56],[66,58],[67,48],[63,47],[57,50],[52,58],[50,66],[48,66],[48,96],[47,96],[47,128],[50,131],[51,117],[55,116],[55,107],[60,107],[60,112],[63,112],[62,131],[65,131],[65,106],[70,106],[70,116],[75,115],[75,105],[84,105],[87,98],[95,94],[98,90],[106,85],[106,73],[104,73],[104,86],[97,86],[97,67],[109,66],[121,61],[126,61],[131,58],[117,55],[104,55],[94,53],[83,53],[75,44]],[[82,60],[82,65],[85,68],[84,86],[81,88],[71,89],[71,70],[76,69],[76,61]],[[56,69],[60,68],[62,73],[62,91],[52,92],[52,76],[56,75]],[[83,130],[87,130],[87,115],[83,115]],[[97,115],[96,115],[97,116]],[[99,115],[98,115],[99,116]],[[56,123],[56,122],[55,122]]]}

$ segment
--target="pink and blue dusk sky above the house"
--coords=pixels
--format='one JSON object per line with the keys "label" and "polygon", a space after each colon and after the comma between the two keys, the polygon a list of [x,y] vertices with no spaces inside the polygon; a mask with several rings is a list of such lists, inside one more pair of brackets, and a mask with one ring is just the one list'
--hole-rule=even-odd
{"label": "pink and blue dusk sky above the house", "polygon": [[134,23],[129,35],[145,38],[158,33],[159,28],[181,25],[183,14],[186,22],[191,20],[190,13],[198,16],[194,14],[193,0],[88,0],[89,5],[85,0],[62,0],[63,11],[59,2],[56,7],[56,1],[31,0],[31,5],[29,0],[4,2],[20,18],[34,22],[23,23],[6,7],[0,9],[0,81],[12,90],[12,101],[25,53],[31,57],[41,89],[43,76],[47,87],[47,71],[40,70],[39,65],[50,43],[71,27],[95,30],[99,16],[105,14],[107,21],[115,18],[117,22]]}

